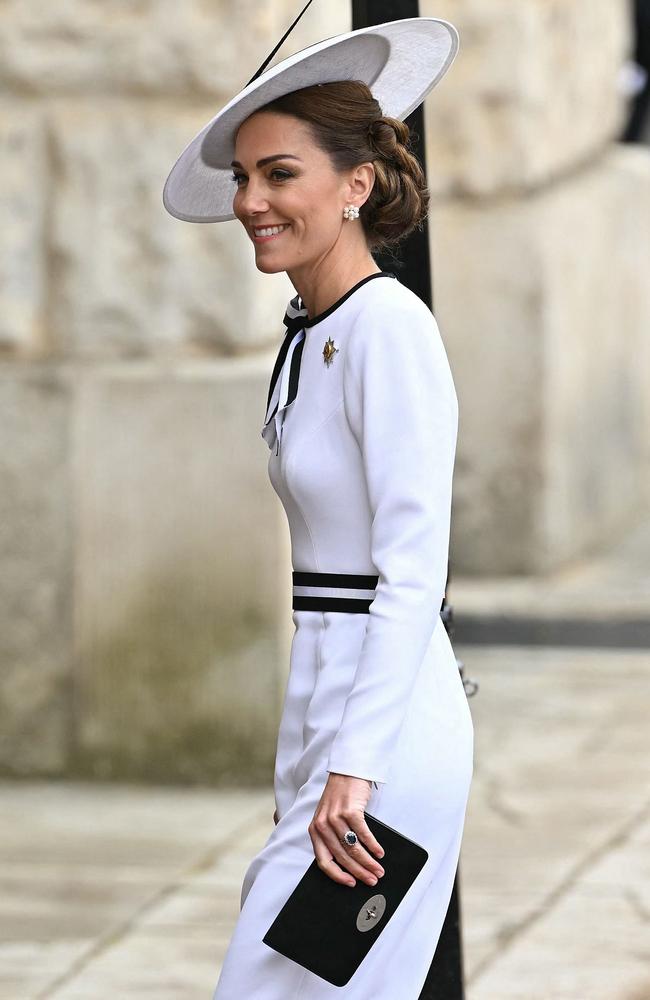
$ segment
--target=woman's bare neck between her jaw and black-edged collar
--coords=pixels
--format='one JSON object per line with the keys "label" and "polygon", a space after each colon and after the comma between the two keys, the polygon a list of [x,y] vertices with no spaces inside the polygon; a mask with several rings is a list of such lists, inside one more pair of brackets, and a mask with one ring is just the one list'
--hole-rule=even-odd
{"label": "woman's bare neck between her jaw and black-edged collar", "polygon": [[378,274],[377,266],[367,247],[358,254],[325,256],[321,260],[287,271],[291,284],[313,319],[329,309],[358,281],[369,274]]}

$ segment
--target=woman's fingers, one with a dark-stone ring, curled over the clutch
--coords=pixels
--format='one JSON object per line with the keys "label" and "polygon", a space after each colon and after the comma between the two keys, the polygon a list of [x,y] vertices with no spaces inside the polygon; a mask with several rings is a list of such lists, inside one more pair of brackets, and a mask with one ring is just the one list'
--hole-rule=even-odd
{"label": "woman's fingers, one with a dark-stone ring, curled over the clutch", "polygon": [[[354,830],[359,840],[350,846],[342,843],[347,830]],[[361,843],[363,838],[377,854],[383,854],[379,842],[373,837],[365,820],[355,813],[351,820],[339,817],[328,822],[324,816],[314,819],[309,827],[309,835],[314,845],[314,854],[319,868],[336,882],[354,885],[357,876],[367,885],[376,885],[384,874],[384,869]],[[348,874],[349,873],[349,874]]]}

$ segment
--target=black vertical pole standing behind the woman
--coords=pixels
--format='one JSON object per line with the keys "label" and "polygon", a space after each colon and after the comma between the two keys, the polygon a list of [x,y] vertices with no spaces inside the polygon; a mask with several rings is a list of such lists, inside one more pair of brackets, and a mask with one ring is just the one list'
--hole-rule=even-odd
{"label": "black vertical pole standing behind the woman", "polygon": [[[405,17],[419,17],[419,14],[418,0],[352,0],[353,30],[383,24],[385,21],[399,21]],[[404,120],[411,130],[413,152],[426,174],[422,105]],[[433,309],[429,229],[426,221],[422,229],[415,230],[404,240],[396,256],[374,253],[373,257],[382,270],[396,274],[402,284],[415,292],[429,309]],[[459,872],[456,871],[445,922],[419,1000],[464,1000],[461,942]]]}

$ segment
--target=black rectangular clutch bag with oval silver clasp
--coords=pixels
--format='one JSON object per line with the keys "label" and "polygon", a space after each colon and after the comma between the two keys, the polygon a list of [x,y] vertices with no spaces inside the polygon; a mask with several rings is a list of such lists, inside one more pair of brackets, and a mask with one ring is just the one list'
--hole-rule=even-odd
{"label": "black rectangular clutch bag with oval silver clasp", "polygon": [[398,830],[364,816],[384,848],[377,885],[356,875],[356,885],[342,885],[314,858],[262,939],[334,986],[345,986],[358,969],[429,857]]}

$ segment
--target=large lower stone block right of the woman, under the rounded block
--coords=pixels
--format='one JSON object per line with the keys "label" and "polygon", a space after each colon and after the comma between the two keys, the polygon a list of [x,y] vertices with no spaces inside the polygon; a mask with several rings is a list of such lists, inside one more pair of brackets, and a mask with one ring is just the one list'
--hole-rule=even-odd
{"label": "large lower stone block right of the woman, under the rounded block", "polygon": [[648,497],[650,154],[615,144],[526,200],[440,203],[430,233],[460,403],[456,569],[605,546]]}

